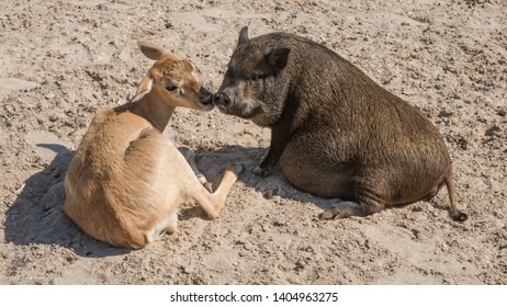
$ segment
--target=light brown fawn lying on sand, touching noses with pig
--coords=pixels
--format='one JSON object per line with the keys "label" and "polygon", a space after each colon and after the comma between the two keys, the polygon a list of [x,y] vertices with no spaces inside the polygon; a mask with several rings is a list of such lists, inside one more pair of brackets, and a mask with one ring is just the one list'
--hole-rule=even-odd
{"label": "light brown fawn lying on sand, touching noses with pig", "polygon": [[[76,150],[65,178],[65,213],[89,236],[113,246],[143,248],[173,232],[178,206],[194,200],[216,218],[241,164],[225,170],[210,193],[190,149],[179,151],[162,136],[177,106],[210,111],[212,93],[193,65],[149,43],[156,60],[124,105],[99,112]],[[198,179],[199,177],[199,179]]]}

